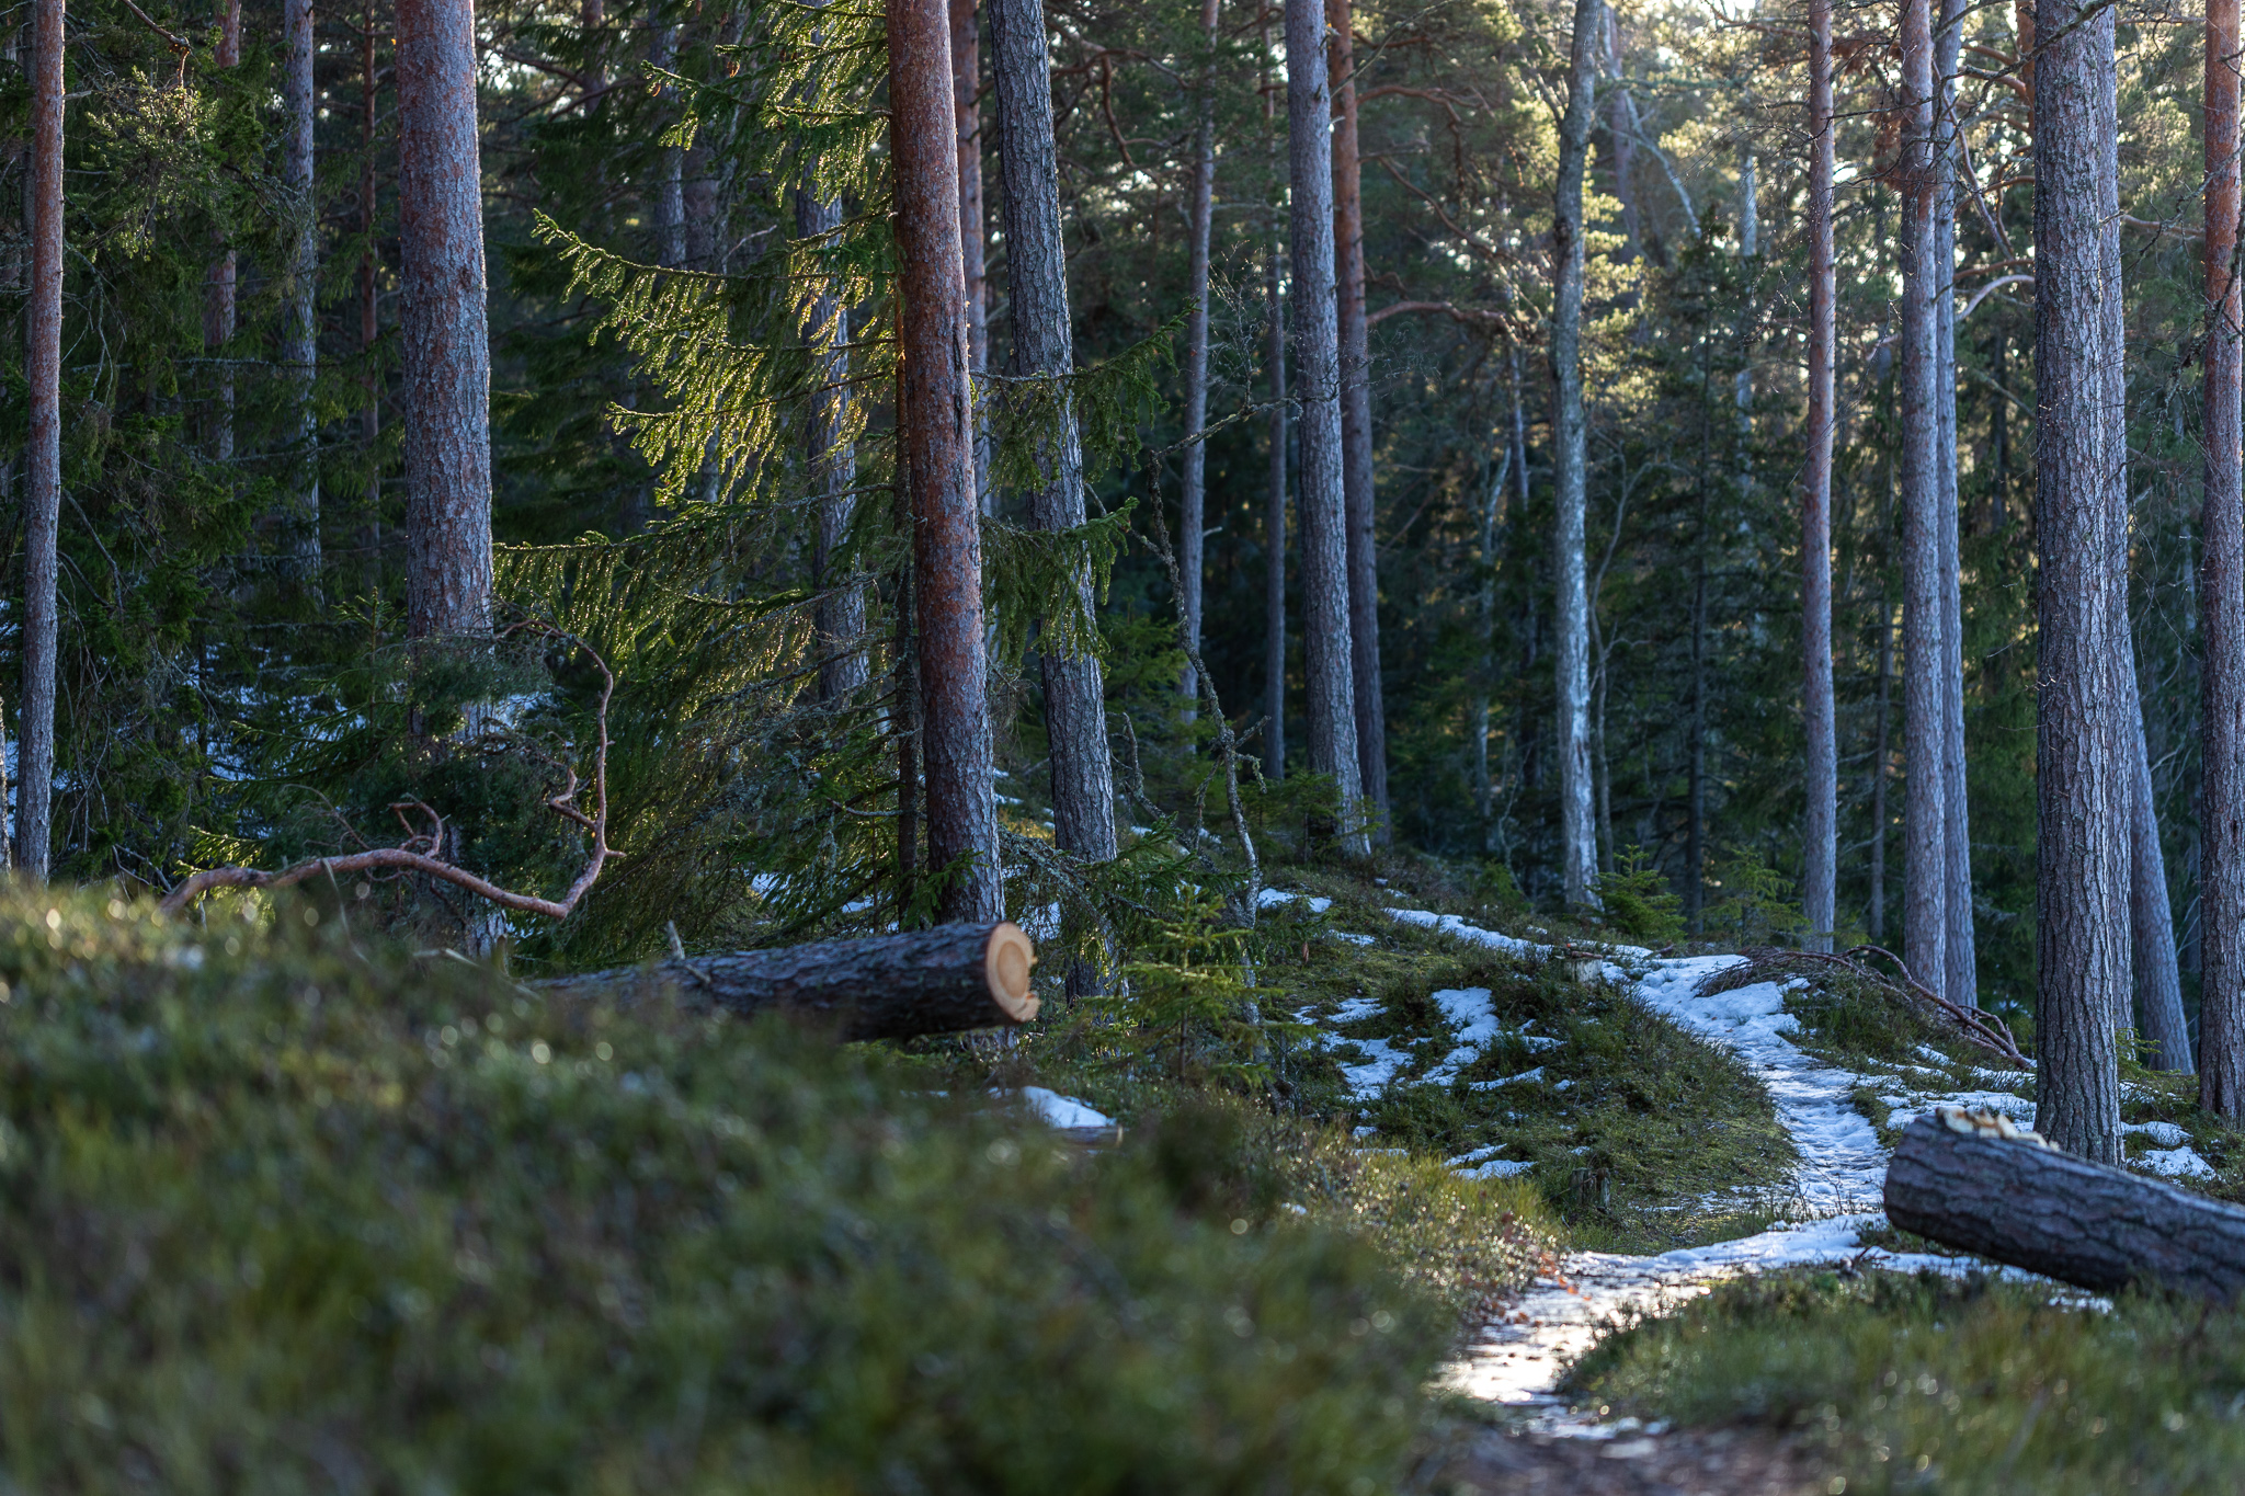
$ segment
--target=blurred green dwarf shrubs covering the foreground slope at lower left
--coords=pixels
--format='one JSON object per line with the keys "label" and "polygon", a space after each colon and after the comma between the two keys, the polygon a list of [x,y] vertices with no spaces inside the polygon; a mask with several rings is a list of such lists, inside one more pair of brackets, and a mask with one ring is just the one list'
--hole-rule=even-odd
{"label": "blurred green dwarf shrubs covering the foreground slope at lower left", "polygon": [[[317,929],[310,922],[317,920]],[[1450,1335],[880,1052],[0,904],[13,1489],[1378,1492]]]}

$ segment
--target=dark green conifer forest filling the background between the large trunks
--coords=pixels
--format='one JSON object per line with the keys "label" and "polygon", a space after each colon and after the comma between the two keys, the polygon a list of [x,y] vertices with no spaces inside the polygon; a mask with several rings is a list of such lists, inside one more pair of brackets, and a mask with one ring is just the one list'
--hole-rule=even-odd
{"label": "dark green conifer forest filling the background between the large trunks", "polygon": [[[27,292],[27,20],[29,7],[0,13],[9,316]],[[1316,810],[1316,785],[1280,787],[1304,765],[1300,579],[1284,680],[1273,680],[1266,608],[1273,554],[1289,554],[1271,523],[1273,440],[1284,458],[1293,431],[1275,437],[1271,419],[1268,318],[1273,296],[1291,296],[1282,25],[1246,4],[1219,4],[1210,20],[1203,31],[1185,7],[1048,7],[1066,289],[1089,370],[1087,484],[1093,520],[1114,516],[1075,536],[1091,561],[1111,556],[1096,626],[1127,819],[1221,830],[1212,724],[1176,691],[1179,610],[1149,523],[1158,511],[1167,534],[1179,527],[1206,130],[1201,648],[1246,751],[1268,760],[1264,785],[1250,776],[1248,810],[1286,839]],[[285,139],[283,22],[247,0],[238,63],[220,65],[209,7],[85,0],[70,13],[54,866],[168,888],[193,866],[269,866],[379,839],[386,803],[406,789],[436,798],[440,785],[447,814],[469,828],[462,857],[503,881],[550,881],[581,850],[521,805],[584,731],[595,693],[584,657],[550,648],[503,662],[507,700],[525,707],[512,747],[478,769],[512,774],[462,774],[400,747],[395,27],[382,0],[314,16],[305,186],[292,182]],[[741,348],[792,341],[772,336],[772,323],[797,316],[772,276],[790,256],[826,256],[860,330],[871,327],[858,379],[873,384],[849,413],[862,422],[858,482],[864,493],[889,482],[876,274],[887,247],[867,215],[887,191],[880,27],[844,11],[826,31],[817,22],[786,4],[604,0],[476,16],[496,597],[505,617],[593,644],[620,680],[611,841],[624,859],[568,924],[519,931],[525,955],[642,953],[660,949],[667,922],[689,942],[864,926],[909,899],[885,881],[891,720],[880,704],[835,707],[810,684],[810,615],[833,592],[819,567],[867,579],[869,628],[882,628],[894,520],[869,498],[849,536],[822,541],[792,428],[799,370],[777,354],[725,368],[691,357],[696,327],[730,327]],[[1632,886],[1679,895],[1695,935],[1785,938],[1800,924],[1789,890],[1803,857],[1800,18],[1630,7],[1601,25],[1583,341],[1596,859],[1610,884],[1657,875]],[[1888,11],[1841,9],[1834,34],[1836,924],[1843,940],[1886,940],[1899,929],[1910,772],[1888,182],[1899,83]],[[1569,16],[1549,7],[1354,11],[1387,828],[1479,868],[1491,897],[1538,908],[1563,899],[1545,325],[1567,40]],[[2196,43],[2196,22],[2122,13],[2131,617],[2187,987],[2198,946],[2200,269],[2196,240],[2171,224],[2193,215],[2200,182]],[[2032,287],[2016,285],[2032,240],[2016,45],[2007,7],[1973,9],[1955,72],[1973,182],[1955,224],[1964,720],[1980,991],[1998,1007],[2025,1003],[2034,978],[2036,395]],[[997,370],[1017,330],[1004,184],[986,146],[988,63],[977,81]],[[801,103],[822,90],[835,108]],[[840,227],[799,213],[806,170]],[[209,316],[222,249],[238,265],[231,332]],[[303,296],[317,312],[308,419],[287,352]],[[20,345],[4,341],[0,359],[11,500],[0,525],[16,556]],[[990,698],[1008,861],[1028,872],[1008,902],[1028,908],[1053,897],[1030,846],[1048,756],[1035,662],[1053,624],[1028,628],[1028,615],[1066,558],[1033,536],[1024,484],[1006,471],[1001,458],[986,518]],[[0,648],[16,648],[16,621],[11,601]],[[13,655],[0,671],[13,673]],[[485,684],[413,691],[460,702]],[[1158,881],[1156,861],[1154,850],[1125,857],[1114,877]]]}

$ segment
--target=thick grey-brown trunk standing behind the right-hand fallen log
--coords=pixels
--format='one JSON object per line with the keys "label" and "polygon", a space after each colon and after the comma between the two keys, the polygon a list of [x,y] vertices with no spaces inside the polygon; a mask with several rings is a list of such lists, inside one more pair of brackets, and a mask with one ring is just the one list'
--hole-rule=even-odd
{"label": "thick grey-brown trunk standing behind the right-hand fallen log", "polygon": [[2113,159],[2113,11],[2038,0],[2034,85],[2036,1130],[2119,1162],[2113,1014],[2128,989],[2128,843],[2115,650],[2128,648],[2110,502],[2117,410],[2101,182]]}

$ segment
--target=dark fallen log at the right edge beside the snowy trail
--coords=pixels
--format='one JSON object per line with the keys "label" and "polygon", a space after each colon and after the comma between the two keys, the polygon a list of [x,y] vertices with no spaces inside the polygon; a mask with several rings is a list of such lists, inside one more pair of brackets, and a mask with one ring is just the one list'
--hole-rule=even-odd
{"label": "dark fallen log at the right edge beside the snowy trail", "polygon": [[2097,1292],[2155,1283],[2229,1301],[2245,1290],[2245,1209],[2061,1153],[2034,1133],[2000,1137],[1985,1112],[1940,1108],[1910,1124],[1886,1169],[1886,1218]]}

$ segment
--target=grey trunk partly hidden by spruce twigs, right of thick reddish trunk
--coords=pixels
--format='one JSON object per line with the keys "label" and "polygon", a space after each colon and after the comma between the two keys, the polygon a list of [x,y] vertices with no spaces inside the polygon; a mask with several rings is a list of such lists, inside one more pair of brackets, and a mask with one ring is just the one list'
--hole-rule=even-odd
{"label": "grey trunk partly hidden by spruce twigs, right of thick reddish trunk", "polygon": [[[1066,379],[1075,370],[1069,325],[1069,258],[1060,238],[1060,166],[1053,144],[1053,74],[1042,0],[988,0],[990,72],[997,83],[997,159],[1006,213],[1006,305],[1012,377]],[[1046,484],[1030,496],[1037,529],[1084,523],[1084,453],[1075,413],[1039,453]],[[1075,574],[1078,606],[1093,617],[1091,567]],[[1114,763],[1100,659],[1071,650],[1046,626],[1044,724],[1053,745],[1053,839],[1089,861],[1116,855]]]}

